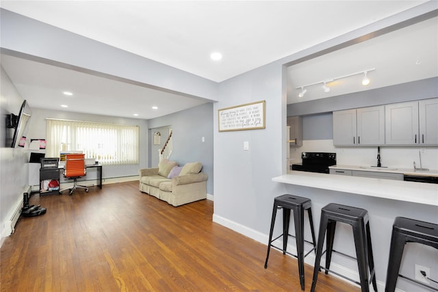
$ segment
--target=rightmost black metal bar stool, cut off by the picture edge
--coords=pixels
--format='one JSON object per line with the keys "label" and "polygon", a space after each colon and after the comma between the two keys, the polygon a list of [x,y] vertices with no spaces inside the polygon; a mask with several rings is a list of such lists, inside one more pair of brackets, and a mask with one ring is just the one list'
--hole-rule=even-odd
{"label": "rightmost black metal bar stool, cut off by the picture edge", "polygon": [[428,284],[398,274],[404,245],[408,242],[422,243],[438,249],[438,225],[404,217],[396,217],[392,226],[385,292],[394,292],[396,290],[398,276],[438,291],[437,288],[431,287]]}

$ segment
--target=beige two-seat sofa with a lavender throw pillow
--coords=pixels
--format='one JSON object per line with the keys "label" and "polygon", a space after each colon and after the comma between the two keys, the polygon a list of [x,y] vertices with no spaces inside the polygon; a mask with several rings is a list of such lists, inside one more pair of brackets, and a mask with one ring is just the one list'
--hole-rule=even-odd
{"label": "beige two-seat sofa with a lavender throw pillow", "polygon": [[[179,167],[175,161],[162,159],[158,168],[138,170],[140,191],[177,207],[207,198],[207,174],[199,162]],[[176,174],[176,175],[175,175]]]}

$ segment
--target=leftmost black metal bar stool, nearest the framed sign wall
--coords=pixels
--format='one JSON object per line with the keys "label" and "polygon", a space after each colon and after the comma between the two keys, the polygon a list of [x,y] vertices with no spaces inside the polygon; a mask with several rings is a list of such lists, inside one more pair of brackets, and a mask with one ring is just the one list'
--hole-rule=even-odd
{"label": "leftmost black metal bar stool, nearest the framed sign wall", "polygon": [[[283,209],[283,233],[278,237],[276,237],[275,239],[272,239],[272,233],[274,232],[274,224],[275,224],[277,209]],[[290,220],[291,210],[294,211],[295,236],[289,235],[289,220]],[[310,230],[311,230],[313,242],[309,242],[304,239],[304,213],[305,213],[304,211],[305,210],[307,210],[307,213],[309,215]],[[286,251],[287,239],[289,238],[289,236],[295,237],[296,239],[296,251],[297,251],[296,255]],[[278,248],[275,245],[272,245],[272,242],[276,241],[276,239],[279,239],[280,237],[283,237],[283,248]],[[309,252],[307,252],[307,254],[304,254],[305,242],[311,243],[313,245],[313,248]],[[268,258],[269,258],[269,252],[271,246],[272,248],[281,250],[283,254],[289,254],[291,256],[294,256],[295,258],[298,258],[298,271],[300,273],[301,290],[304,291],[304,258],[310,252],[315,250],[316,247],[315,230],[313,229],[310,199],[288,195],[288,194],[274,198],[274,208],[272,209],[272,220],[271,220],[271,228],[269,233],[268,252],[266,254],[265,269],[268,267]]]}

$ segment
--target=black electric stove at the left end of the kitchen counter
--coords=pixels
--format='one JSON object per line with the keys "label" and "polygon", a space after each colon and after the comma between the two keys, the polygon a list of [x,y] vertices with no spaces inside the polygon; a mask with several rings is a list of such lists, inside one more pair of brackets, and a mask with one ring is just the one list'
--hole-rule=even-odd
{"label": "black electric stove at the left end of the kitchen counter", "polygon": [[302,163],[292,164],[292,170],[302,172],[329,173],[329,166],[336,164],[336,153],[328,152],[302,152]]}

